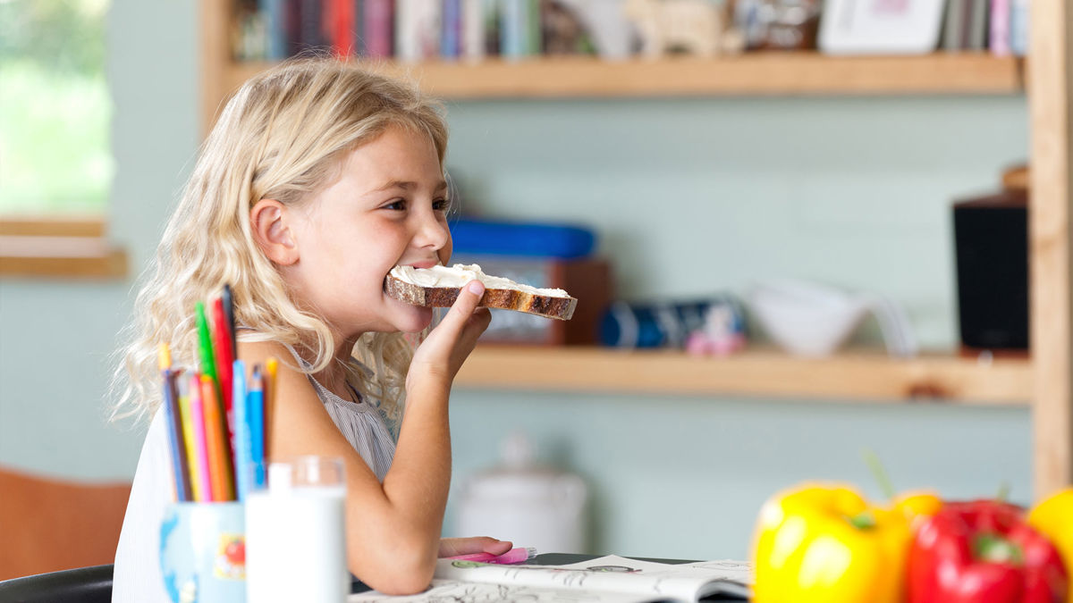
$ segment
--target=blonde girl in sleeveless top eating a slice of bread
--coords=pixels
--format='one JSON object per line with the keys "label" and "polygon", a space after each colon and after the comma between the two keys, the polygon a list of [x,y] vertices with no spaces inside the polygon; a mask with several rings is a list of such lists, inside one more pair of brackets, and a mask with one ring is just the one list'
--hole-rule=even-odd
{"label": "blonde girl in sleeveless top eating a slice of bread", "polygon": [[414,89],[328,58],[283,63],[227,103],[167,224],[126,348],[120,410],[156,416],[116,551],[114,601],[166,600],[158,541],[172,485],[157,347],[193,364],[194,303],[224,283],[238,357],[281,361],[271,455],[344,459],[351,572],[411,593],[428,586],[437,555],[511,547],[439,538],[447,398],[490,320],[476,308],[483,286],[464,288],[416,349],[406,334],[424,332],[431,310],[383,292],[392,267],[451,256],[446,139],[438,107]]}

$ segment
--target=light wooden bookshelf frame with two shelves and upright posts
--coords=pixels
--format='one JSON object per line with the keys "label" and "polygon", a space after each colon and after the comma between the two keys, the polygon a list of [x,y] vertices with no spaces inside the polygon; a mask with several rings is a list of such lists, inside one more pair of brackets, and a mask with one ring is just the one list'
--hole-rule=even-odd
{"label": "light wooden bookshelf frame with two shelves and upright posts", "polygon": [[[236,63],[230,4],[201,0],[203,129],[223,101],[266,63]],[[954,356],[896,361],[846,354],[803,361],[750,352],[730,361],[675,352],[481,347],[457,383],[607,392],[733,394],[846,400],[929,397],[966,403],[1028,403],[1035,495],[1073,483],[1073,6],[1034,0],[1030,61],[987,54],[825,57],[748,54],[717,59],[606,62],[592,58],[475,64],[384,62],[444,99],[720,95],[1017,94],[1027,92],[1032,132],[1030,264],[1032,358],[989,366]]]}

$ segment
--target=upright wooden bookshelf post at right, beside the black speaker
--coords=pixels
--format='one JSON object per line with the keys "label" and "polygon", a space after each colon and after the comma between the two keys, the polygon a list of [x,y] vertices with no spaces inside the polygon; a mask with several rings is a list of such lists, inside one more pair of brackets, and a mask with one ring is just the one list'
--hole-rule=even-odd
{"label": "upright wooden bookshelf post at right, beside the black speaker", "polygon": [[1031,119],[1031,341],[1035,369],[1032,468],[1040,499],[1073,483],[1070,33],[1068,0],[1033,0],[1028,98]]}

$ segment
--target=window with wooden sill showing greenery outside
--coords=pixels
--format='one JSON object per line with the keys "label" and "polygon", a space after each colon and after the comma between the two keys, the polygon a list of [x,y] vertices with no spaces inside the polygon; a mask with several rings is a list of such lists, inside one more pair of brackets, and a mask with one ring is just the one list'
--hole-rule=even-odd
{"label": "window with wooden sill showing greenery outside", "polygon": [[117,277],[108,0],[0,0],[0,276]]}

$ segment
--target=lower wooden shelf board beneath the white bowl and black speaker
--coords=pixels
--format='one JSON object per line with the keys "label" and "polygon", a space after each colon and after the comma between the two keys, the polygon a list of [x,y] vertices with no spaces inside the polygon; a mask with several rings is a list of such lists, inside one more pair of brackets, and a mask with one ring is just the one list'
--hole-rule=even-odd
{"label": "lower wooden shelf board beneath the white bowl and black speaker", "polygon": [[670,350],[481,344],[455,384],[496,389],[1027,405],[1032,396],[1032,365],[1027,358],[981,363],[954,355],[922,355],[897,359],[866,351],[820,359],[750,350],[719,358]]}

